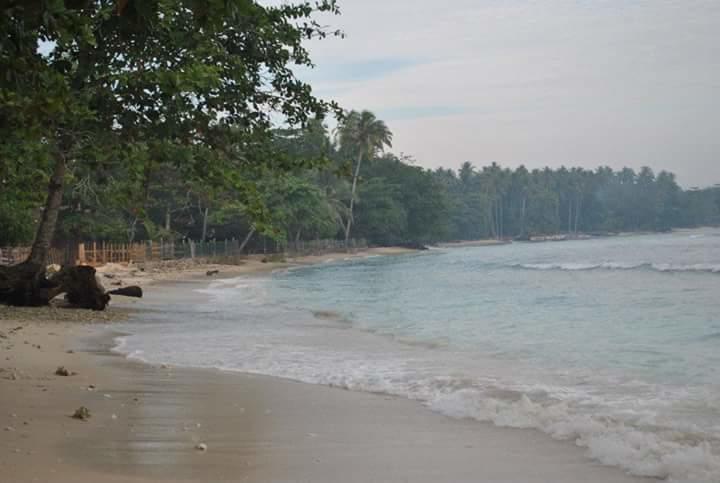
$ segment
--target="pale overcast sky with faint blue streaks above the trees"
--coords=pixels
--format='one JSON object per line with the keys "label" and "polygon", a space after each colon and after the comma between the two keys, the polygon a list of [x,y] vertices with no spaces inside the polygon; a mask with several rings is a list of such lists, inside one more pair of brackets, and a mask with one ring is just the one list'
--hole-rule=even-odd
{"label": "pale overcast sky with faint blue streaks above the trees", "polygon": [[720,183],[718,0],[339,0],[315,92],[427,168],[650,166]]}

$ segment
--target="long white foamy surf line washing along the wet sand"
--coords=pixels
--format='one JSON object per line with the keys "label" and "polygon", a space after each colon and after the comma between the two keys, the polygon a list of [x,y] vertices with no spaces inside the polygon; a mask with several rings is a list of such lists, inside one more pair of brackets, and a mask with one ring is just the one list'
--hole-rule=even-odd
{"label": "long white foamy surf line washing along the wet sand", "polygon": [[[431,410],[458,419],[490,422],[499,427],[536,429],[559,440],[574,441],[587,455],[603,464],[618,466],[632,475],[663,478],[673,483],[720,481],[720,428],[709,434],[701,428],[661,427],[647,410],[636,415],[613,414],[609,408],[594,413],[579,412],[583,398],[570,388],[528,389],[521,386],[491,386],[448,378],[408,378],[408,374],[366,367],[324,364],[324,369],[282,365],[273,360],[248,357],[238,364],[184,364],[160,360],[132,347],[133,336],[116,338],[115,352],[149,364],[214,368],[228,372],[281,377],[300,382],[354,391],[388,394],[417,400]],[[544,394],[543,396],[538,396]],[[505,397],[498,397],[503,394]],[[655,425],[655,426],[654,426]],[[654,427],[653,427],[654,426]]]}

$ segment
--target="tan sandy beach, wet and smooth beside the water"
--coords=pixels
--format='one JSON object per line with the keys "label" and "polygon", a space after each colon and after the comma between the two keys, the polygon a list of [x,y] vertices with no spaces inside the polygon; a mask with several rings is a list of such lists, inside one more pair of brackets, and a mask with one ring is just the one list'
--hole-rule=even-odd
{"label": "tan sandy beach, wet and smooth beside the water", "polygon": [[[451,419],[401,398],[153,366],[110,352],[111,322],[141,321],[156,294],[162,303],[187,297],[210,269],[234,276],[284,265],[146,277],[185,282],[152,287],[147,299],[102,314],[2,308],[0,481],[648,481],[593,463],[572,443]],[[71,375],[56,375],[60,366]],[[86,421],[71,417],[81,406]]]}

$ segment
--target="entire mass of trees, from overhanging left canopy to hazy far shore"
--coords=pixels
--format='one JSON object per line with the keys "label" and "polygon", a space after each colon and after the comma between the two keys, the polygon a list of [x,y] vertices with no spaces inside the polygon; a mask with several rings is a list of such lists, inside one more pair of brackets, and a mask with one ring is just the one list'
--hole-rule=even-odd
{"label": "entire mass of trees, from overhanging left canopy to hazy far shore", "polygon": [[420,244],[720,223],[717,187],[650,168],[427,170],[393,154],[373,113],[295,78],[312,66],[305,40],[342,35],[317,12],[339,13],[330,0],[10,2],[0,245],[33,244],[41,263],[53,240]]}

